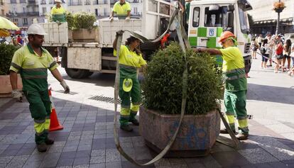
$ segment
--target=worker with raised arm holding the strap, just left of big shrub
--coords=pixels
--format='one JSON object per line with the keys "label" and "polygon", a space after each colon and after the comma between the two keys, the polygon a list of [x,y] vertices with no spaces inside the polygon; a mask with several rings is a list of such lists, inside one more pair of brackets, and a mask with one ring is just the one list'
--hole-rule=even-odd
{"label": "worker with raised arm holding the strap, just left of big shrub", "polygon": [[[113,43],[114,56],[116,56],[117,38],[124,32],[116,32]],[[136,32],[141,35],[141,33]],[[126,45],[121,45],[119,51],[119,97],[121,99],[121,115],[119,118],[120,128],[132,131],[129,122],[139,125],[136,114],[141,103],[141,87],[138,82],[137,69],[146,66],[141,51],[138,50],[140,40],[134,35],[126,39]],[[130,100],[131,99],[131,100]]]}

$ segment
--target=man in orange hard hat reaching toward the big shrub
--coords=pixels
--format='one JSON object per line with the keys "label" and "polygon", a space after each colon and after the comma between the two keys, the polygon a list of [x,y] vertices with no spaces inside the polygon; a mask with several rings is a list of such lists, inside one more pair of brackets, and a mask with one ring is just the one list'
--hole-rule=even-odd
{"label": "man in orange hard hat reaching toward the big shrub", "polygon": [[[222,72],[225,78],[224,106],[226,108],[227,121],[235,132],[235,119],[239,123],[239,134],[236,138],[246,140],[249,136],[246,111],[247,79],[245,74],[244,59],[238,47],[236,47],[236,36],[230,31],[224,31],[219,38],[223,49],[197,48],[195,52],[208,52],[211,55],[222,55],[224,60]],[[221,133],[228,133],[226,129]]]}

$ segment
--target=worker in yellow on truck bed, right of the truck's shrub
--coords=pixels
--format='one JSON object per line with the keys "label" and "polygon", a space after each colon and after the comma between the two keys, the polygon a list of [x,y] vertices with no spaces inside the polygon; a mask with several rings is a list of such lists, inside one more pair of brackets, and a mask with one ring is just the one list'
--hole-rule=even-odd
{"label": "worker in yellow on truck bed, right of the truck's shrub", "polygon": [[114,13],[118,18],[126,18],[126,21],[130,20],[131,17],[131,4],[126,0],[119,0],[114,4],[114,9],[112,9],[110,21],[114,19]]}

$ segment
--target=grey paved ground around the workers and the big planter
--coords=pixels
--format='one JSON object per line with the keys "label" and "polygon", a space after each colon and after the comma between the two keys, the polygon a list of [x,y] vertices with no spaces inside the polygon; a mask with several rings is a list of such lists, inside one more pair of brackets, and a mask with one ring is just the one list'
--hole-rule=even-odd
{"label": "grey paved ground around the workers and the big planter", "polygon": [[[150,167],[294,167],[294,78],[259,67],[260,60],[254,60],[247,102],[254,119],[241,150],[216,143],[207,157],[161,159]],[[62,86],[49,77],[64,129],[50,133],[55,144],[48,152],[36,150],[28,103],[0,99],[0,167],[135,167],[114,145],[114,104],[94,100],[94,96],[113,98],[114,75],[74,80],[60,71],[72,94],[62,94]],[[132,157],[141,162],[154,157],[138,127],[133,133],[119,130],[119,136]]]}

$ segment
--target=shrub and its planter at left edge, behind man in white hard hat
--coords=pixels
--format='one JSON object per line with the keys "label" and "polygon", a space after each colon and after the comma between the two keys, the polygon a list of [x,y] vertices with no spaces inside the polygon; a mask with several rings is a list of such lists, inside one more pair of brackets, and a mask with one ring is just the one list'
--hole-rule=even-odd
{"label": "shrub and its planter at left edge, behind man in white hard hat", "polygon": [[[11,84],[9,78],[9,67],[14,52],[18,47],[14,45],[0,44],[0,94],[10,94]],[[18,89],[22,88],[21,77],[18,76]]]}

